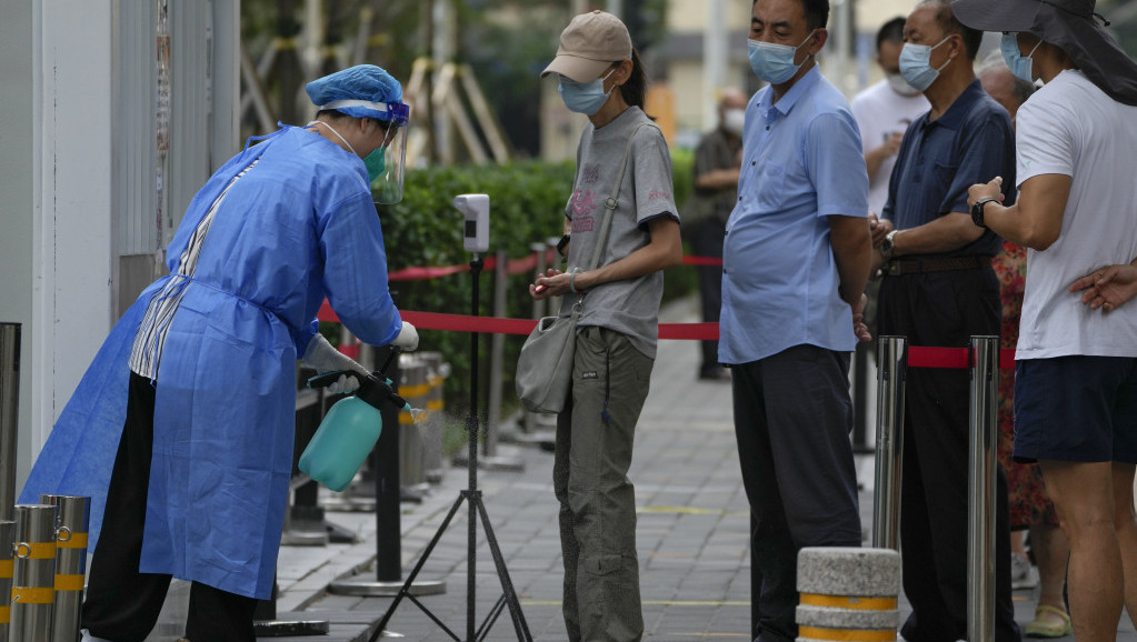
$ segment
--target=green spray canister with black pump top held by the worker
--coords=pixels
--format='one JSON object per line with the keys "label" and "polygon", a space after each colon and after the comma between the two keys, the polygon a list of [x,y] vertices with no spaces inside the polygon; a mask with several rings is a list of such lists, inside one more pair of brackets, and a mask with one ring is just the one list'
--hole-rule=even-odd
{"label": "green spray canister with black pump top held by the worker", "polygon": [[335,370],[308,380],[308,387],[326,387],[341,375],[354,376],[359,387],[337,401],[324,416],[316,434],[300,456],[300,470],[333,491],[348,487],[363,460],[379,441],[383,417],[379,411],[384,401],[396,408],[410,406],[391,389],[390,382],[355,370]]}

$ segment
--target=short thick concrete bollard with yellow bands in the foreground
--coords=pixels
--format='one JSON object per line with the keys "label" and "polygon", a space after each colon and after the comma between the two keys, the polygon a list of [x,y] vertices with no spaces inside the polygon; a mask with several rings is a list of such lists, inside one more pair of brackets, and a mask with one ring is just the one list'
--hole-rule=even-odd
{"label": "short thick concrete bollard with yellow bands in the foreground", "polygon": [[891,549],[807,548],[797,557],[798,642],[896,640],[901,556]]}

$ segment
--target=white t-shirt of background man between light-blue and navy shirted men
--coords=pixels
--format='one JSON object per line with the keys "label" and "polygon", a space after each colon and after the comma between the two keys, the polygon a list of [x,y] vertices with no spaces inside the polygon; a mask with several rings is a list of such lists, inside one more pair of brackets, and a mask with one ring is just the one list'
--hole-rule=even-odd
{"label": "white t-shirt of background man between light-blue and navy shirted men", "polygon": [[[901,95],[888,86],[888,81],[869,86],[849,103],[853,117],[861,128],[862,151],[872,151],[885,144],[895,133],[903,134],[921,114],[931,109],[922,93]],[[888,178],[893,175],[896,157],[886,158],[880,169],[869,180],[869,211],[880,214],[888,200]]]}

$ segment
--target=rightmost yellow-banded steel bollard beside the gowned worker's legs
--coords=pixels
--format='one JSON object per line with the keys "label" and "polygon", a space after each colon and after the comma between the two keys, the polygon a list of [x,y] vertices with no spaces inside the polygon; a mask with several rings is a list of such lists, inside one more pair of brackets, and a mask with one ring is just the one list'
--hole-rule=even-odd
{"label": "rightmost yellow-banded steel bollard beside the gowned worker's legs", "polygon": [[56,601],[51,616],[52,642],[75,642],[86,577],[86,535],[91,526],[91,498],[40,495],[40,503],[59,511],[56,539]]}

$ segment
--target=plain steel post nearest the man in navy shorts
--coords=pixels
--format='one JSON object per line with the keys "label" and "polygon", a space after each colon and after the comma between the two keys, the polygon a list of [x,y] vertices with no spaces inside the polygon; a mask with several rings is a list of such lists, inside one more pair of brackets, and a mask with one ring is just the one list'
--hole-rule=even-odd
{"label": "plain steel post nearest the man in navy shorts", "polygon": [[971,355],[968,640],[994,640],[998,336],[972,336]]}

